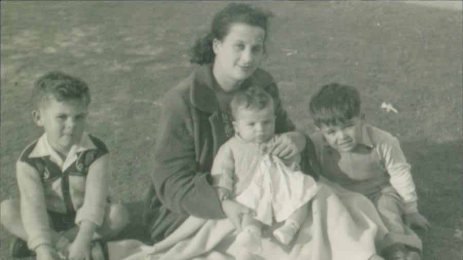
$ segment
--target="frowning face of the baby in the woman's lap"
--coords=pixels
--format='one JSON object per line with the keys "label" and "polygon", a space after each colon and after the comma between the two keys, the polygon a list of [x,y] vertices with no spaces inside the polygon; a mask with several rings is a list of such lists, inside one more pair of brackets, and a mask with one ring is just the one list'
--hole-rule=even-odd
{"label": "frowning face of the baby in the woman's lap", "polygon": [[264,143],[275,134],[275,112],[272,105],[261,110],[239,108],[233,125],[246,141]]}

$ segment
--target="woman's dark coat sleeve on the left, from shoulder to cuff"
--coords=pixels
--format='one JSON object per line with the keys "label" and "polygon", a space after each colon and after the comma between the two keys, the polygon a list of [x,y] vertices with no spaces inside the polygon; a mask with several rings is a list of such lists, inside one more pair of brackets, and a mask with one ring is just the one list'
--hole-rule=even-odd
{"label": "woman's dark coat sleeve on the left, from shoulder to cuff", "polygon": [[[152,182],[165,207],[201,218],[225,217],[208,173],[198,172],[188,97],[170,91],[164,98],[154,150]],[[199,144],[198,144],[199,145]],[[203,144],[207,145],[207,144]]]}

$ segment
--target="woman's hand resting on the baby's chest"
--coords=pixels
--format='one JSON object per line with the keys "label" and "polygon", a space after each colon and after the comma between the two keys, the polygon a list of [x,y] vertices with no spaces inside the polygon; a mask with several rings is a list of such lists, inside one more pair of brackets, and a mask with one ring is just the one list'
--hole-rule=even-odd
{"label": "woman's hand resting on the baby's chest", "polygon": [[290,159],[306,147],[306,137],[299,132],[287,132],[279,135],[269,153],[281,159]]}

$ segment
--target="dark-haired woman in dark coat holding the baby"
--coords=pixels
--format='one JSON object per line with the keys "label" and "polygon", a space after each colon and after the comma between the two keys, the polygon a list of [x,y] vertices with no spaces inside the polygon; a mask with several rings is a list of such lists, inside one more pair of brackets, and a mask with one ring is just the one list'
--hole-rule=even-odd
{"label": "dark-haired woman in dark coat holding the baby", "polygon": [[224,218],[225,212],[236,223],[247,210],[232,201],[222,206],[209,180],[213,157],[233,135],[228,103],[238,90],[257,85],[275,99],[281,136],[273,155],[289,158],[305,147],[304,135],[291,132],[295,127],[281,108],[274,80],[258,68],[268,17],[247,5],[228,5],[212,21],[211,33],[193,47],[192,62],[201,66],[165,96],[145,215],[152,242],[189,215]]}

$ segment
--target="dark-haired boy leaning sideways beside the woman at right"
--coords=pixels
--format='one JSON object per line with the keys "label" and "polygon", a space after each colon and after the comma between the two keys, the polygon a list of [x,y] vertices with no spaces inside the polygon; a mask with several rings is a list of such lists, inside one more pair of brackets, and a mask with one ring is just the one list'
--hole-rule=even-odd
{"label": "dark-haired boy leaning sideways beside the woman at right", "polygon": [[430,224],[418,213],[411,167],[395,137],[363,122],[360,105],[357,89],[336,83],[311,98],[319,130],[311,139],[322,175],[375,204],[393,243],[383,257],[420,259],[421,240],[409,226],[427,230]]}

